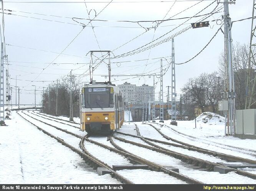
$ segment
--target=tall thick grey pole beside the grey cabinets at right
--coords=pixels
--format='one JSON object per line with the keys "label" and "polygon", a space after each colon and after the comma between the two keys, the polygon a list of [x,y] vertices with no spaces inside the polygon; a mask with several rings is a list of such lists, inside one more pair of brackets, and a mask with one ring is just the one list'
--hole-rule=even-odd
{"label": "tall thick grey pole beside the grey cabinets at right", "polygon": [[[236,112],[235,112],[235,84],[233,74],[233,61],[232,61],[232,47],[231,47],[231,18],[228,10],[229,4],[235,4],[235,2],[220,2],[224,4],[224,54],[225,54],[225,92],[223,98],[228,100],[228,132],[234,135],[236,132]],[[225,113],[224,113],[225,114]],[[226,127],[225,127],[226,128]]]}

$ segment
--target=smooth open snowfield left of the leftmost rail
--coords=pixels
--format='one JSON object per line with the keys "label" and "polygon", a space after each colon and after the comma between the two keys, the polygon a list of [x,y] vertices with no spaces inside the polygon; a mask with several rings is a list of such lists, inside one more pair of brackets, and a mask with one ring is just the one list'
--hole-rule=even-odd
{"label": "smooth open snowfield left of the leftmost rail", "polygon": [[[0,184],[119,183],[99,176],[84,160],[12,112],[0,126]],[[68,173],[67,173],[68,172]]]}

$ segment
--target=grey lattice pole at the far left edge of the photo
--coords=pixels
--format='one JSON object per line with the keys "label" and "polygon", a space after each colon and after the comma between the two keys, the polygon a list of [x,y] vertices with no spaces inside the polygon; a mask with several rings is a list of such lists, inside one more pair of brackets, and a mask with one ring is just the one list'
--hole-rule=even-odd
{"label": "grey lattice pole at the far left edge of the photo", "polygon": [[0,68],[0,125],[5,125],[5,103],[4,103],[4,84],[3,84],[3,42],[1,44],[1,68]]}

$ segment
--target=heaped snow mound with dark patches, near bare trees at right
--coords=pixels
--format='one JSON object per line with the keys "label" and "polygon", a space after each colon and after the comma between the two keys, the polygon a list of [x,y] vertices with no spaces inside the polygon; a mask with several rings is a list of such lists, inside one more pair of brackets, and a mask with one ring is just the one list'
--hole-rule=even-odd
{"label": "heaped snow mound with dark patches, near bare trees at right", "polygon": [[209,125],[223,125],[225,123],[225,117],[212,112],[203,112],[196,119],[197,122],[203,122]]}

